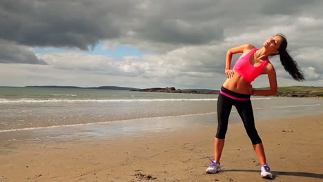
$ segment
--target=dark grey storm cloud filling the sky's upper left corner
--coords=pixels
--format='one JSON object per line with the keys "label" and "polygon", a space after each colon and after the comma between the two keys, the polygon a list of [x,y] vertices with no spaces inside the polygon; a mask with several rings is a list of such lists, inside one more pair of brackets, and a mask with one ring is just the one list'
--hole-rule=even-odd
{"label": "dark grey storm cloud filling the sky's upper left corner", "polygon": [[87,49],[119,36],[113,10],[119,1],[0,1],[0,39],[32,46]]}

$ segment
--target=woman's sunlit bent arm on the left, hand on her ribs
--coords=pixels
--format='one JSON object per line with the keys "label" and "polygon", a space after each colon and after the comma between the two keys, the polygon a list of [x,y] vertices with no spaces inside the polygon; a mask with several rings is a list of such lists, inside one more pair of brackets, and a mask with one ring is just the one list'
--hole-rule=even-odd
{"label": "woman's sunlit bent arm on the left, hand on her ribs", "polygon": [[231,70],[231,61],[232,61],[232,55],[237,53],[244,53],[246,50],[253,50],[255,46],[252,44],[243,44],[239,45],[235,48],[231,48],[226,52],[226,70],[224,71],[226,73],[226,77],[231,78],[234,75],[233,70]]}

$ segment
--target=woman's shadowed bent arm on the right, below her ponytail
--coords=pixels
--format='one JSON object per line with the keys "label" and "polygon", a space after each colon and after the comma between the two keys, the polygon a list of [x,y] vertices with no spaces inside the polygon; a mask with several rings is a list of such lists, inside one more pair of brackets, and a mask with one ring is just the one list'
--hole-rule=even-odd
{"label": "woman's shadowed bent arm on the right, below her ponytail", "polygon": [[267,65],[265,74],[268,74],[269,85],[271,87],[271,90],[252,90],[251,94],[263,95],[263,96],[277,95],[278,86],[277,86],[276,71],[271,63]]}

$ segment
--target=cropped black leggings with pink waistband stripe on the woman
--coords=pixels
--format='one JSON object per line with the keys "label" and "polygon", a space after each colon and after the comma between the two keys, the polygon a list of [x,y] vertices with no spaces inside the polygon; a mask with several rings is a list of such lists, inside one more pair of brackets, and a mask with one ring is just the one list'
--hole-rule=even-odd
{"label": "cropped black leggings with pink waistband stripe on the woman", "polygon": [[[222,94],[219,94],[217,99],[217,139],[225,138],[226,130],[228,130],[228,118],[232,105],[234,105],[237,108],[237,112],[244,123],[244,128],[253,145],[262,143],[262,139],[260,139],[255,129],[255,119],[253,117],[253,106],[251,105],[250,95],[232,92],[224,87],[221,88],[221,91]],[[243,99],[244,101],[242,101]]]}

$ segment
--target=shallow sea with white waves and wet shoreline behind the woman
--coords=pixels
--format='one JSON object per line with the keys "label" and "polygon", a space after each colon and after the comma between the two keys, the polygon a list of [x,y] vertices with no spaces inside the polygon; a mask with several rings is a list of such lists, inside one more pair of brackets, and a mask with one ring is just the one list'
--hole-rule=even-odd
{"label": "shallow sea with white waves and wet shoreline behind the woman", "polygon": [[[256,122],[323,111],[323,99],[315,98],[252,97],[252,103]],[[216,113],[217,94],[0,87],[0,133],[77,130],[73,134],[106,135],[214,127]],[[233,107],[230,123],[237,122]],[[82,127],[87,132],[80,132]]]}

